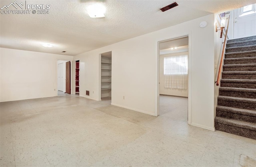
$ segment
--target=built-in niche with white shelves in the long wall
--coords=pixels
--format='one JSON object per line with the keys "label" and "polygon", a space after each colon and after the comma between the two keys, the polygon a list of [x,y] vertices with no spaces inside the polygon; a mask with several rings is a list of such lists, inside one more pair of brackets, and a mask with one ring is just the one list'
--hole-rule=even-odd
{"label": "built-in niche with white shelves in the long wall", "polygon": [[111,98],[112,52],[101,54],[101,98]]}

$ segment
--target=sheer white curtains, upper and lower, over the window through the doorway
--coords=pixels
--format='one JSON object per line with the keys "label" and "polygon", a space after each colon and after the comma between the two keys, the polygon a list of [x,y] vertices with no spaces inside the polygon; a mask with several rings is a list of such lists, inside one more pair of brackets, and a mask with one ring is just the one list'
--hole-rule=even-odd
{"label": "sheer white curtains, upper and lower, over the window through the doorway", "polygon": [[164,57],[164,87],[188,89],[188,55]]}

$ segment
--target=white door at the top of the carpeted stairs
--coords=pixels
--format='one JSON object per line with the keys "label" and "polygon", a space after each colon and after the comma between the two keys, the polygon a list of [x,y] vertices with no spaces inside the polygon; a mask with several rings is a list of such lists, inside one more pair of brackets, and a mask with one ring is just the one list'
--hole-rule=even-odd
{"label": "white door at the top of the carpeted stairs", "polygon": [[234,38],[256,35],[254,4],[234,10]]}

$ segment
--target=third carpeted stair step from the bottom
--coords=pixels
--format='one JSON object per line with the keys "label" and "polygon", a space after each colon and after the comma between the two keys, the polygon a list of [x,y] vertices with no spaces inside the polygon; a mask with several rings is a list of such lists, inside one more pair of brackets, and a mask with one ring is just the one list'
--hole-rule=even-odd
{"label": "third carpeted stair step from the bottom", "polygon": [[218,96],[218,105],[234,107],[234,108],[244,108],[248,110],[256,110],[256,99],[230,97],[230,96]]}

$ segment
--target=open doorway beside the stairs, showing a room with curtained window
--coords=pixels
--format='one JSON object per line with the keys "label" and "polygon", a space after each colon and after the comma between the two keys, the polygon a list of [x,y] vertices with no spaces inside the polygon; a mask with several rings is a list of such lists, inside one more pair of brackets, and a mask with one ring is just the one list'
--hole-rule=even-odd
{"label": "open doorway beside the stairs, showing a room with curtained window", "polygon": [[188,36],[158,42],[158,115],[188,121],[188,57]]}

